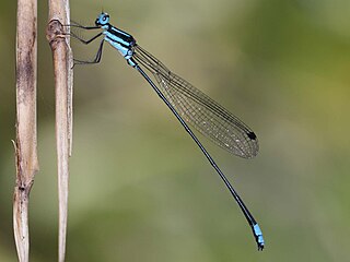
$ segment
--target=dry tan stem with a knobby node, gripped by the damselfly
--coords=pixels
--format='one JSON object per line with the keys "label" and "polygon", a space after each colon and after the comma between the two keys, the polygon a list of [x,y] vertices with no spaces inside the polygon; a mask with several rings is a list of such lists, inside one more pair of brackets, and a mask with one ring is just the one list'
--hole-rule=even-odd
{"label": "dry tan stem with a knobby node, gripped by the damselfly", "polygon": [[69,155],[71,152],[72,122],[72,57],[67,27],[69,22],[69,4],[65,0],[49,1],[49,23],[46,32],[49,40],[55,71],[56,85],[56,145],[58,165],[58,261],[63,262],[66,255]]}

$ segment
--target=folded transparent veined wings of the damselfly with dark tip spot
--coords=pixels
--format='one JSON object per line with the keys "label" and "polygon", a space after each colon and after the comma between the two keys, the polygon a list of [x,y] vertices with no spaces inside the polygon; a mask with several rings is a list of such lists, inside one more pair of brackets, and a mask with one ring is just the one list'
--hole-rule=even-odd
{"label": "folded transparent veined wings of the damselfly with dark tip spot", "polygon": [[255,133],[237,117],[138,45],[133,48],[133,58],[154,75],[168,102],[201,134],[234,155],[244,158],[257,155],[259,146]]}

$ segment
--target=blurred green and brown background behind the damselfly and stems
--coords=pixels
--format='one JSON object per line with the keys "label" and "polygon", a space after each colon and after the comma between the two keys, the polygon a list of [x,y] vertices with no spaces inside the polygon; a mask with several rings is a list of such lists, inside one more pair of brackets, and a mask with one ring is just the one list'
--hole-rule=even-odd
{"label": "blurred green and brown background behind the damselfly and stems", "polygon": [[[250,228],[194,142],[142,78],[105,46],[74,69],[67,261],[349,261],[350,1],[72,1],[101,12],[257,133],[234,157],[202,139],[255,217]],[[0,3],[0,261],[16,261],[15,2]],[[38,154],[31,259],[57,261],[54,80],[38,5]],[[97,45],[72,41],[78,58]],[[201,136],[200,136],[201,138]]]}

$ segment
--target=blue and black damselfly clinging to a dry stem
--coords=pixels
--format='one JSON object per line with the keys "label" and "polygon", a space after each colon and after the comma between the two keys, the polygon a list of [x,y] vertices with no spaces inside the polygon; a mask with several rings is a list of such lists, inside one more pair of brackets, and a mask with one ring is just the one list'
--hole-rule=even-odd
{"label": "blue and black damselfly clinging to a dry stem", "polygon": [[[73,37],[85,45],[102,36],[95,59],[92,61],[74,60],[75,64],[98,63],[102,58],[103,45],[105,41],[108,41],[121,53],[132,68],[140,72],[189,133],[225,183],[253,229],[258,250],[262,250],[265,242],[257,222],[187,123],[195,127],[200,133],[209,138],[219,146],[244,158],[254,157],[258,153],[259,146],[255,133],[225,108],[217,104],[184,79],[171,72],[160,60],[141,48],[131,35],[109,24],[109,15],[107,13],[102,12],[98,15],[95,21],[95,26],[82,26],[80,24],[71,24],[70,26],[82,29],[102,29],[89,40],[82,39],[71,33]],[[143,69],[154,76],[158,85]]]}

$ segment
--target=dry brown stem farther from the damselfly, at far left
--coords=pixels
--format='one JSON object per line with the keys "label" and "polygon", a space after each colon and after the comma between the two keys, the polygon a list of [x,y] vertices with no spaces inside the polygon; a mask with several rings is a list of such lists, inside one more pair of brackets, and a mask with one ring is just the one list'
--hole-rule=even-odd
{"label": "dry brown stem farther from the damselfly, at far left", "polygon": [[18,1],[16,32],[16,180],[13,195],[13,229],[19,261],[28,261],[28,201],[38,170],[36,138],[36,0]]}

